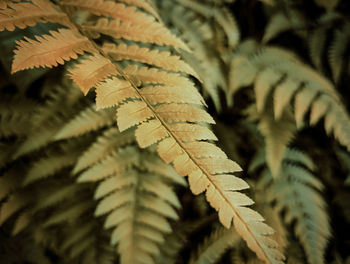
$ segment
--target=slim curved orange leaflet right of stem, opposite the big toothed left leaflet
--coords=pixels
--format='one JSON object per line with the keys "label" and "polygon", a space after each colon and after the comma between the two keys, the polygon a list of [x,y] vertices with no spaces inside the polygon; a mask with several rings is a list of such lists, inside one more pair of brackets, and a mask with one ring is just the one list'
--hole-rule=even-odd
{"label": "slim curved orange leaflet right of stem, opposite the big toothed left leaflet", "polygon": [[102,49],[116,61],[139,61],[166,70],[185,72],[198,77],[191,66],[182,61],[179,56],[171,55],[171,53],[167,51],[160,52],[155,49],[141,48],[138,45],[127,46],[125,44],[115,45],[111,43],[106,43],[103,45]]}

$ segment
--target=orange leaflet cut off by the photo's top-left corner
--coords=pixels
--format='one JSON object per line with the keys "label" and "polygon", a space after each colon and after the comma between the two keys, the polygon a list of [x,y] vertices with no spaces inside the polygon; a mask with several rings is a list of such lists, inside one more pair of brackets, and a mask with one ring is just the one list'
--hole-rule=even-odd
{"label": "orange leaflet cut off by the photo's top-left corner", "polygon": [[67,14],[45,0],[32,0],[8,4],[4,10],[0,10],[0,31],[13,31],[15,28],[24,29],[34,26],[38,22],[60,23],[70,25]]}

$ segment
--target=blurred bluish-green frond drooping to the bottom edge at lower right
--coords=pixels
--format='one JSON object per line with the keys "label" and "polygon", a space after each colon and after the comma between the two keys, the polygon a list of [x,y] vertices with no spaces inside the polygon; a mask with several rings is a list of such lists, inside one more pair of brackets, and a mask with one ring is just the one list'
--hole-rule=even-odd
{"label": "blurred bluish-green frond drooping to the bottom edge at lower right", "polygon": [[[252,171],[259,167],[258,163],[252,164]],[[323,255],[331,235],[325,202],[320,194],[323,184],[315,178],[314,169],[307,155],[296,150],[287,151],[278,178],[271,181],[271,172],[265,169],[260,182],[265,191],[269,186],[268,195],[276,201],[277,209],[286,210],[286,223],[296,221],[295,234],[311,264],[324,263]]]}

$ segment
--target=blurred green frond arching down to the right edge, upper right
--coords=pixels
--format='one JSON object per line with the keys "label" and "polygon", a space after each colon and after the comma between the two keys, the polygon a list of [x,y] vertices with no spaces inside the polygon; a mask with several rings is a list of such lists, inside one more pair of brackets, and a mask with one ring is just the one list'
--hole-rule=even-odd
{"label": "blurred green frond arching down to the right edge, upper right", "polygon": [[[262,85],[258,86],[260,78]],[[294,101],[294,118],[298,127],[309,113],[310,125],[321,118],[325,130],[350,149],[350,120],[333,85],[301,63],[289,51],[275,47],[257,47],[252,41],[242,44],[231,63],[231,87],[228,96],[255,83],[259,112],[264,111],[268,95],[274,96],[274,113],[279,120],[285,108]],[[264,103],[265,102],[265,103]]]}

